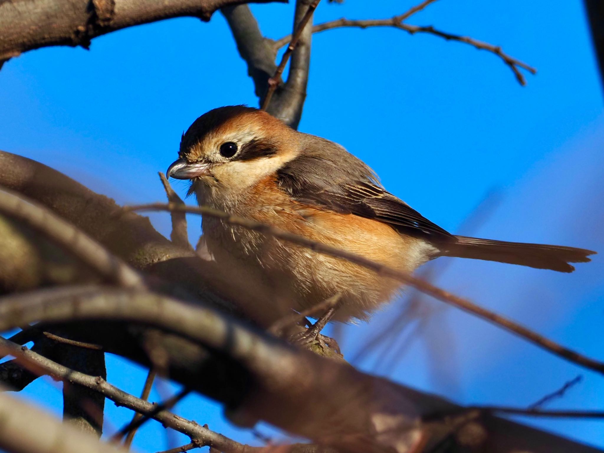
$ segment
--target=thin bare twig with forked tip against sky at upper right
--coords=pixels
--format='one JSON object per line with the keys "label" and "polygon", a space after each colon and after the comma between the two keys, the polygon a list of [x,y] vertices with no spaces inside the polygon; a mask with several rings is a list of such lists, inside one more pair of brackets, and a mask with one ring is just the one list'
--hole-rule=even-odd
{"label": "thin bare twig with forked tip against sky at upper right", "polygon": [[[433,34],[434,36],[442,37],[443,39],[446,39],[448,41],[451,40],[451,41],[463,42],[463,43],[472,45],[479,50],[486,50],[486,51],[489,51],[490,53],[495,54],[496,56],[500,57],[500,59],[504,63],[506,63],[506,65],[509,66],[510,69],[512,69],[512,72],[514,73],[516,80],[518,80],[518,83],[520,83],[520,85],[522,85],[522,86],[526,85],[526,79],[524,78],[524,76],[522,75],[522,73],[519,71],[518,68],[525,69],[526,71],[530,72],[533,75],[536,74],[536,72],[537,72],[537,69],[533,68],[532,66],[527,65],[527,63],[524,63],[521,60],[515,59],[515,58],[509,56],[508,54],[504,53],[503,50],[501,50],[500,46],[496,46],[493,44],[489,44],[487,42],[479,41],[479,40],[471,38],[469,36],[461,36],[459,34],[447,33],[446,31],[437,30],[432,25],[420,26],[420,25],[403,24],[402,19],[400,19],[400,18],[401,18],[401,16],[404,16],[405,14],[401,14],[400,16],[394,16],[393,18],[388,18],[388,19],[355,20],[355,19],[341,18],[341,19],[336,19],[335,21],[324,22],[323,24],[315,25],[312,28],[312,32],[320,33],[321,31],[333,30],[334,28],[342,28],[342,27],[358,27],[358,28],[394,27],[394,28],[399,28],[400,30],[405,30],[410,34],[429,33],[429,34]],[[281,47],[283,47],[284,45],[286,45],[286,43],[288,43],[290,37],[291,37],[291,35],[284,36],[281,39],[276,40],[275,44],[274,44],[275,49],[278,50]]]}

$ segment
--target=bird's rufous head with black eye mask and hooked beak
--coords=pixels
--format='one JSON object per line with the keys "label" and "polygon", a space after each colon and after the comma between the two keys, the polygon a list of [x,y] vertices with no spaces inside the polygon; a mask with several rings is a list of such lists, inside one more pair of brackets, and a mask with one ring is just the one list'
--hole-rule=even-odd
{"label": "bird's rufous head with black eye mask and hooked beak", "polygon": [[245,191],[297,155],[296,132],[266,112],[220,107],[182,135],[179,158],[166,176],[190,179],[190,193]]}

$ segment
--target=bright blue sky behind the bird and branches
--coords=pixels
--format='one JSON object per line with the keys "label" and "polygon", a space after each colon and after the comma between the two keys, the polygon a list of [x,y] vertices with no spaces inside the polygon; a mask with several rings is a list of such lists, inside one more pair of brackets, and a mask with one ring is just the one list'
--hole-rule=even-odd
{"label": "bright blue sky behind the bird and branches", "polygon": [[[388,18],[411,5],[322,2],[315,21]],[[267,36],[290,32],[293,5],[252,10]],[[554,8],[545,0],[441,0],[408,22],[501,45],[538,74],[526,74],[522,88],[500,59],[467,45],[389,28],[326,31],[313,39],[300,130],[347,147],[388,190],[449,231],[464,233],[464,219],[483,203],[487,214],[472,231],[478,236],[604,250],[602,89],[582,2]],[[257,103],[220,14],[208,24],[173,19],[119,31],[95,39],[90,51],[33,51],[4,65],[0,87],[0,149],[37,159],[120,203],[164,199],[156,172],[176,157],[180,135],[196,117],[225,104]],[[174,185],[184,193],[185,184]],[[150,217],[169,233],[167,216]],[[192,238],[199,225],[190,218]],[[446,264],[436,279],[444,288],[604,359],[600,255],[568,275],[469,260]],[[355,356],[403,304],[370,324],[345,326],[338,333],[345,356]],[[601,376],[428,298],[422,307],[431,315],[406,348],[373,353],[359,367],[460,403],[518,406],[582,374],[548,407],[604,406]],[[393,336],[400,343],[411,327]],[[111,382],[140,393],[144,371],[111,356],[108,364]],[[60,411],[60,392],[46,381],[23,394]],[[201,397],[189,397],[178,411],[242,442],[254,440]],[[106,416],[115,427],[129,413],[108,402]],[[523,421],[604,448],[603,422]],[[162,431],[148,423],[135,447],[164,449]]]}

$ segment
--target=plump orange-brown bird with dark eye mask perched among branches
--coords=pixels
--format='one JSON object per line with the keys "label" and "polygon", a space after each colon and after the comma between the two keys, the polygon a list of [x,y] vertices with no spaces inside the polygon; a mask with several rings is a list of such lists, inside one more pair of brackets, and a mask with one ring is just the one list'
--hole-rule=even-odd
{"label": "plump orange-brown bird with dark eye mask perched among branches", "polygon": [[[213,109],[183,133],[168,177],[190,181],[199,205],[274,226],[403,272],[437,257],[487,260],[559,272],[596,252],[455,236],[382,187],[341,145],[292,129],[248,106]],[[332,320],[368,320],[402,284],[370,269],[270,235],[202,217],[199,249],[230,275],[247,275],[269,318],[338,295]]]}

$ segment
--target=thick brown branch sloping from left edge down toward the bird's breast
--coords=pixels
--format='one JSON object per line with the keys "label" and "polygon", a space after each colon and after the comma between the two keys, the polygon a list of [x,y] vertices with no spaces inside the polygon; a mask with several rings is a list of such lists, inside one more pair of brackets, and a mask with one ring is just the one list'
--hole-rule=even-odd
{"label": "thick brown branch sloping from left edge down toward the bird's breast", "polygon": [[[134,268],[155,277],[153,280],[165,282],[162,291],[238,312],[238,307],[214,289],[217,285],[221,294],[226,297],[231,294],[233,282],[222,282],[222,269],[212,262],[202,262],[194,251],[170,242],[153,228],[147,217],[124,211],[112,199],[94,193],[47,165],[2,151],[0,186],[49,208]],[[31,288],[31,284],[25,288]]]}

